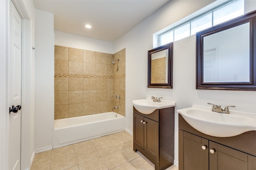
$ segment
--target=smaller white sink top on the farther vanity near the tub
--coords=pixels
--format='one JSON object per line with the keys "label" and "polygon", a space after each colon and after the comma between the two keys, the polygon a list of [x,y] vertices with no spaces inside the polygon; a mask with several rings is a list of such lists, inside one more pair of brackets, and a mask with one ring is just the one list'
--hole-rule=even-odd
{"label": "smaller white sink top on the farther vanity near the tub", "polygon": [[132,104],[135,109],[143,114],[150,114],[156,109],[164,109],[175,106],[175,102],[169,102],[166,100],[161,100],[161,102],[153,102],[151,98],[133,100]]}

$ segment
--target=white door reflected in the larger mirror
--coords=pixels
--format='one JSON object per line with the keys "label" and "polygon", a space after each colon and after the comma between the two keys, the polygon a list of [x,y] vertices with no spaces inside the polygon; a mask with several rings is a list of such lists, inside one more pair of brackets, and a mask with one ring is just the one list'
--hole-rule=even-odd
{"label": "white door reflected in the larger mirror", "polygon": [[204,82],[218,82],[218,47],[204,50]]}

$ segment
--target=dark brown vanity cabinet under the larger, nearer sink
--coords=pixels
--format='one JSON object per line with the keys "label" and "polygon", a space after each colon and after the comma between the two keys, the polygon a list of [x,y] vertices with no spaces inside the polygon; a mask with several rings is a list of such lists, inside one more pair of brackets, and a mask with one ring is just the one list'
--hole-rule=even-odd
{"label": "dark brown vanity cabinet under the larger, nearer sink", "polygon": [[[256,170],[254,131],[225,138],[198,132],[179,115],[179,170]],[[248,147],[254,154],[244,152]]]}

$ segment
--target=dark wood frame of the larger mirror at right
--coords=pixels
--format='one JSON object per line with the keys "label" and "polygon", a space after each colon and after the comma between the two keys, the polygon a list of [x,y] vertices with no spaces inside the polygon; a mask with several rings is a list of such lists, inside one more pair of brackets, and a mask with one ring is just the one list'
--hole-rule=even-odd
{"label": "dark wood frame of the larger mirror at right", "polygon": [[[250,81],[205,83],[203,80],[204,37],[248,22],[250,23]],[[196,89],[256,91],[256,11],[196,33]]]}

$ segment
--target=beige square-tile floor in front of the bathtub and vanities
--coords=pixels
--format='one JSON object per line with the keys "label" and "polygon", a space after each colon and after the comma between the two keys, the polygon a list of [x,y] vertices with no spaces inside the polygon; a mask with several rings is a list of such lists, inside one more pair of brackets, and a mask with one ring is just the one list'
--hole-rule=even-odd
{"label": "beige square-tile floor in front of the bathtub and vanities", "polygon": [[152,162],[133,151],[132,140],[132,135],[123,131],[41,152],[35,155],[30,170],[154,170]]}

